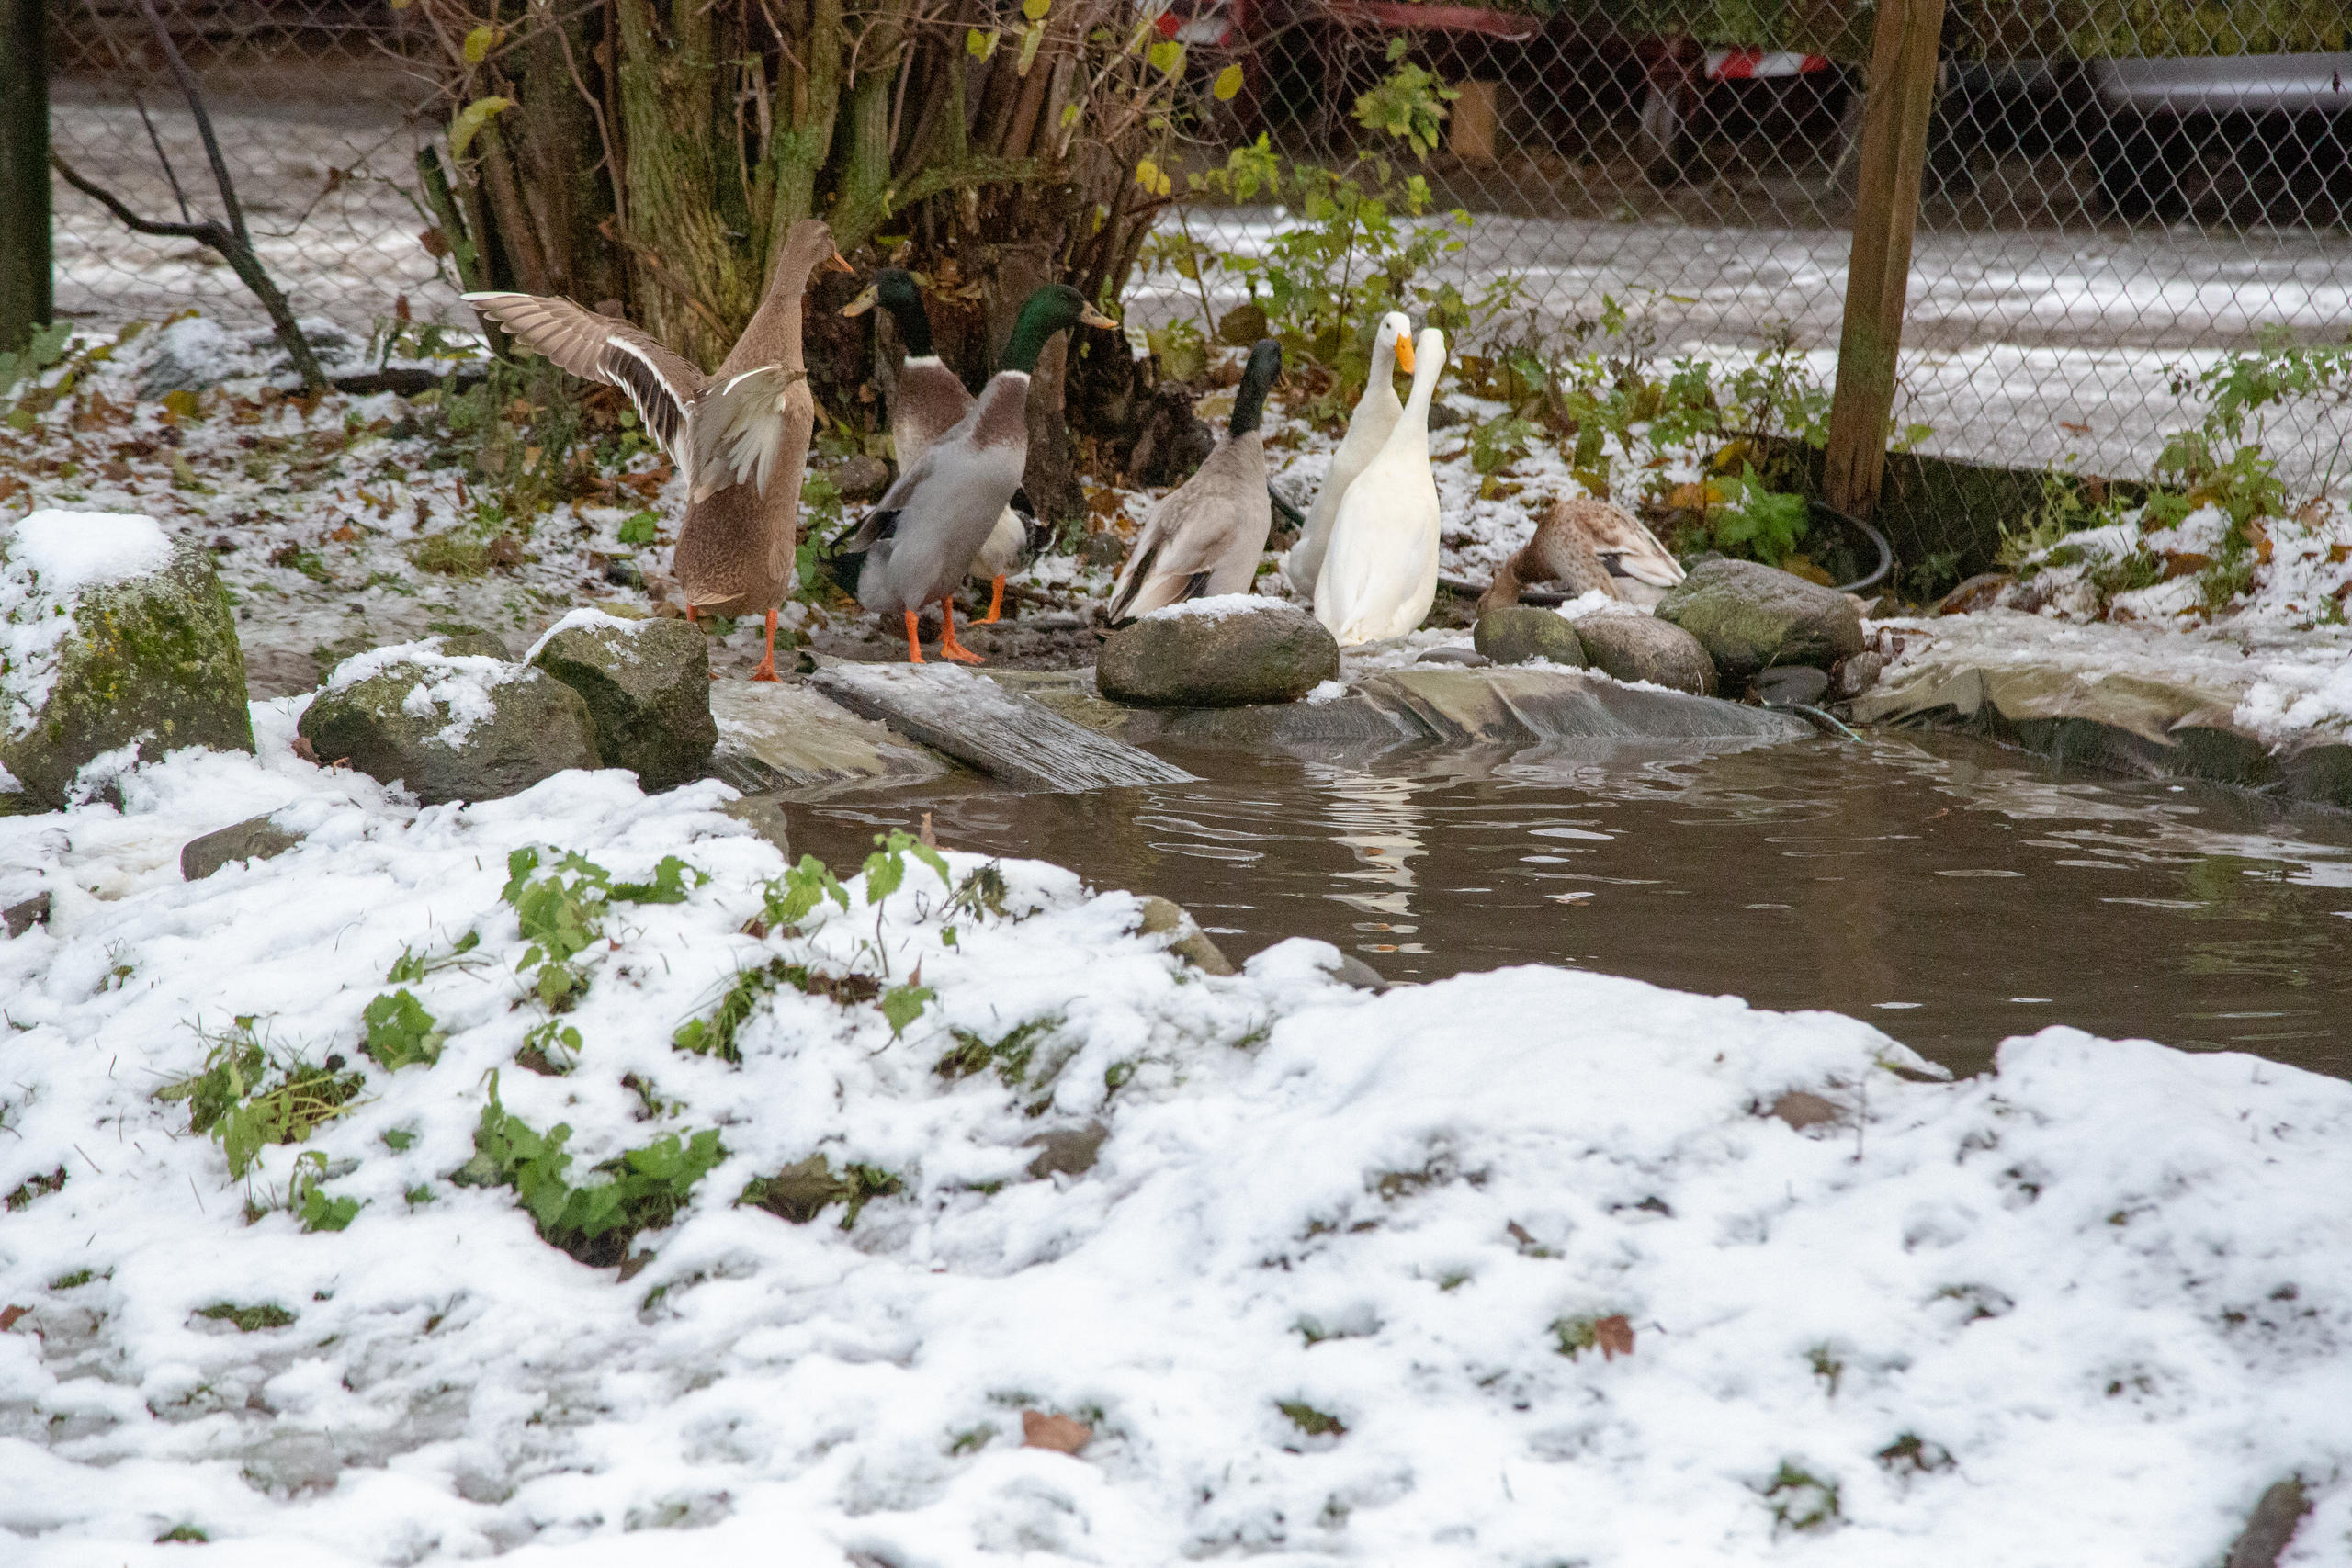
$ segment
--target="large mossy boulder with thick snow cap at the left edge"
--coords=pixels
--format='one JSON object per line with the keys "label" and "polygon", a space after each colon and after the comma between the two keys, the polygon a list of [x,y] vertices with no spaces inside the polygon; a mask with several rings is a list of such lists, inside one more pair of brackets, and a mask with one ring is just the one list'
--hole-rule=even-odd
{"label": "large mossy boulder with thick snow cap at the left edge", "polygon": [[33,512],[0,536],[0,773],[21,792],[64,806],[85,764],[125,748],[249,752],[245,703],[209,550],[115,512]]}

